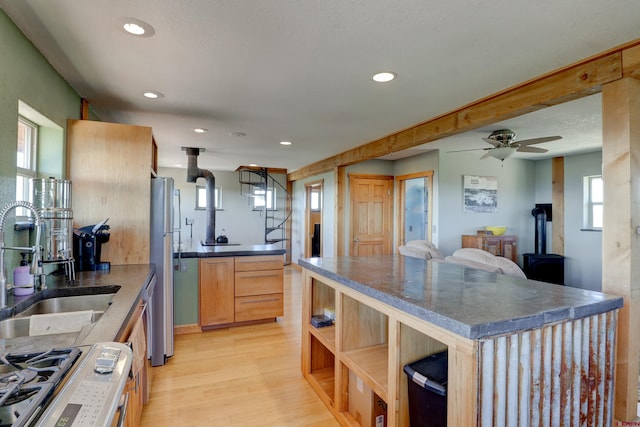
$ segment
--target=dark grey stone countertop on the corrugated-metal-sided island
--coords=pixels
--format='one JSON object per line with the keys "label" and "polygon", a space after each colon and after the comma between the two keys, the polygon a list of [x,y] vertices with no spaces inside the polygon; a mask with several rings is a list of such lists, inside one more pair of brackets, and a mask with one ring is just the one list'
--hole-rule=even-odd
{"label": "dark grey stone countertop on the corrugated-metal-sided island", "polygon": [[400,255],[299,265],[465,338],[539,328],[622,307],[622,298]]}

